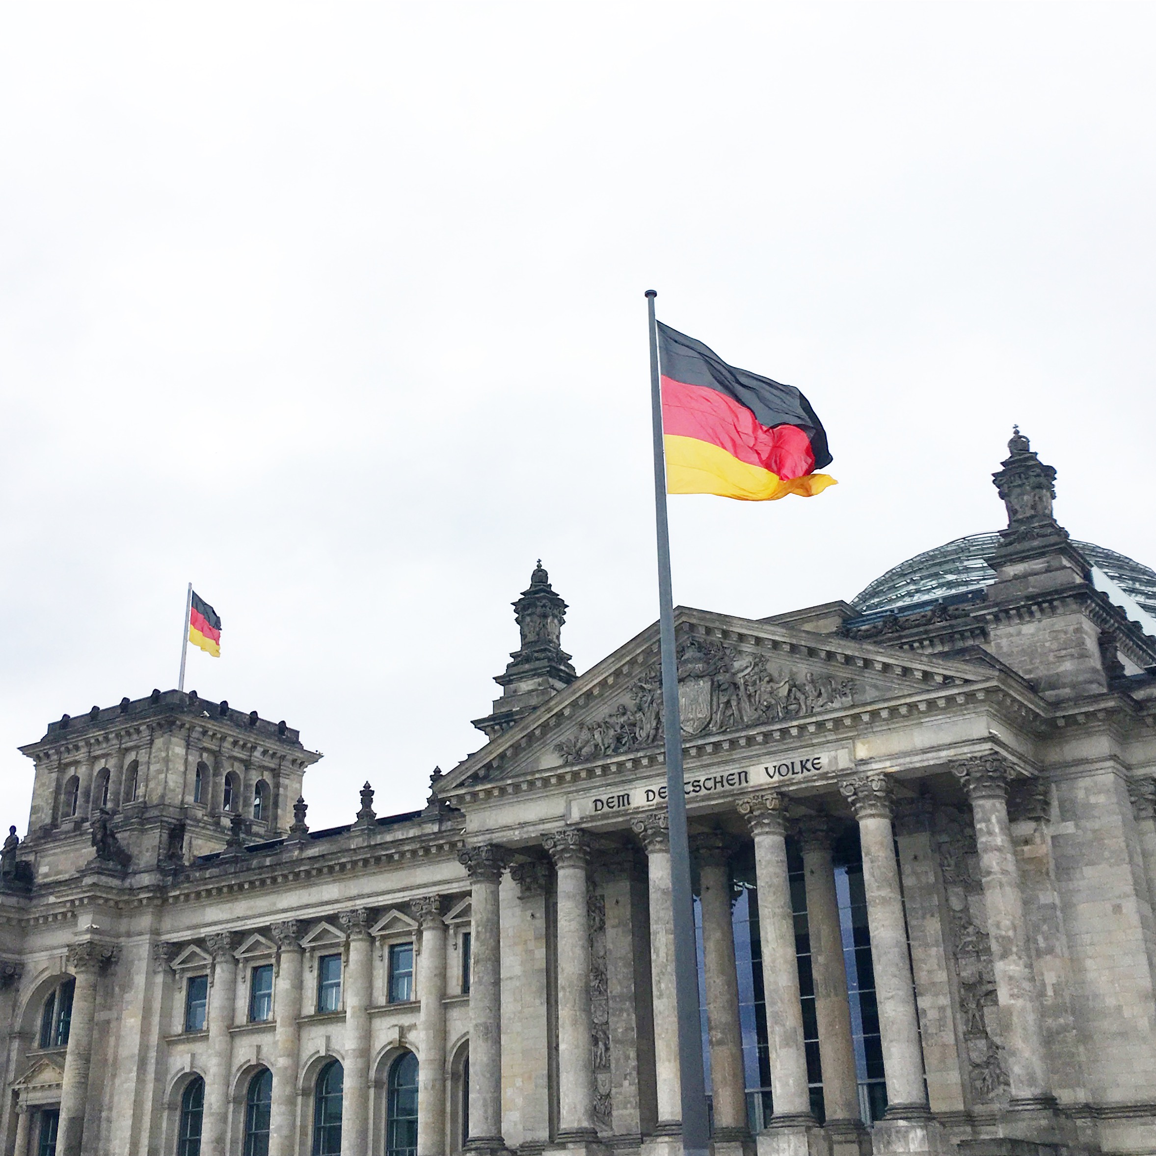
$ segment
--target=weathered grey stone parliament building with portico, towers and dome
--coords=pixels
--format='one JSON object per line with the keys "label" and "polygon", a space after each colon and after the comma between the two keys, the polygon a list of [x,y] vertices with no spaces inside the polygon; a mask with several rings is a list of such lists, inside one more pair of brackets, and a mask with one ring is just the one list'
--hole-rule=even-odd
{"label": "weathered grey stone parliament building with portico, towers and dome", "polygon": [[[1156,575],[1053,480],[1016,433],[978,562],[677,612],[719,1156],[1156,1153]],[[579,676],[514,607],[417,812],[311,831],[298,733],[177,691],[23,748],[5,1154],[679,1150],[658,631]]]}

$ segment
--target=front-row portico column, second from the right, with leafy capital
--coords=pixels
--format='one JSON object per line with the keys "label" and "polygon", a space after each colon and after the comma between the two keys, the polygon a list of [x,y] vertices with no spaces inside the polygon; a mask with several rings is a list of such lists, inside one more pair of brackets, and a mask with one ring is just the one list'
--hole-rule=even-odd
{"label": "front-row portico column, second from the right, with leafy capital", "polygon": [[887,1077],[887,1114],[922,1117],[927,1114],[927,1092],[899,865],[895,859],[891,783],[885,775],[860,775],[842,783],[839,791],[859,822],[867,929]]}

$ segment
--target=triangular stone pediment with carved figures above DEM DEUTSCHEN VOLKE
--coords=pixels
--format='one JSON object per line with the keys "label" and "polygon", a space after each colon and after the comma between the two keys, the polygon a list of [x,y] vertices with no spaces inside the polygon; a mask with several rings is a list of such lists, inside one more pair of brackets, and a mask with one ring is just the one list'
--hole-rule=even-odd
{"label": "triangular stone pediment with carved figures above DEM DEUTSCHEN VOLKE", "polygon": [[[675,630],[688,742],[809,724],[991,676],[963,661],[705,610],[680,607]],[[612,758],[645,758],[661,748],[654,624],[469,756],[446,776],[439,793]]]}

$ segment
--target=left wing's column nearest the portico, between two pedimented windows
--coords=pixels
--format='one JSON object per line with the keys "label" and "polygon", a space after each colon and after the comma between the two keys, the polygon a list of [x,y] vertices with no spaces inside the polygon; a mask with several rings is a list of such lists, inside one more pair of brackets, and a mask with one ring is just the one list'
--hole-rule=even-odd
{"label": "left wing's column nearest the portico, between two pedimented windows", "polygon": [[443,1156],[445,1143],[445,920],[442,897],[413,902],[421,928],[417,957],[417,1020],[421,1058],[417,1065],[417,1156]]}

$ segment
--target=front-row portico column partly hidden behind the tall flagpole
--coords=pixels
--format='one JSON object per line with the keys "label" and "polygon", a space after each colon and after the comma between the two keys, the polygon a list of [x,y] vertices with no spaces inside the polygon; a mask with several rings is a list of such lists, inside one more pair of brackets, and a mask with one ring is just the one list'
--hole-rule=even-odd
{"label": "front-row portico column partly hidden behind the tall flagpole", "polygon": [[674,903],[670,898],[670,832],[666,814],[631,820],[646,849],[650,891],[651,992],[654,1007],[654,1076],[658,1135],[682,1131],[679,1073],[679,1007],[674,990]]}

